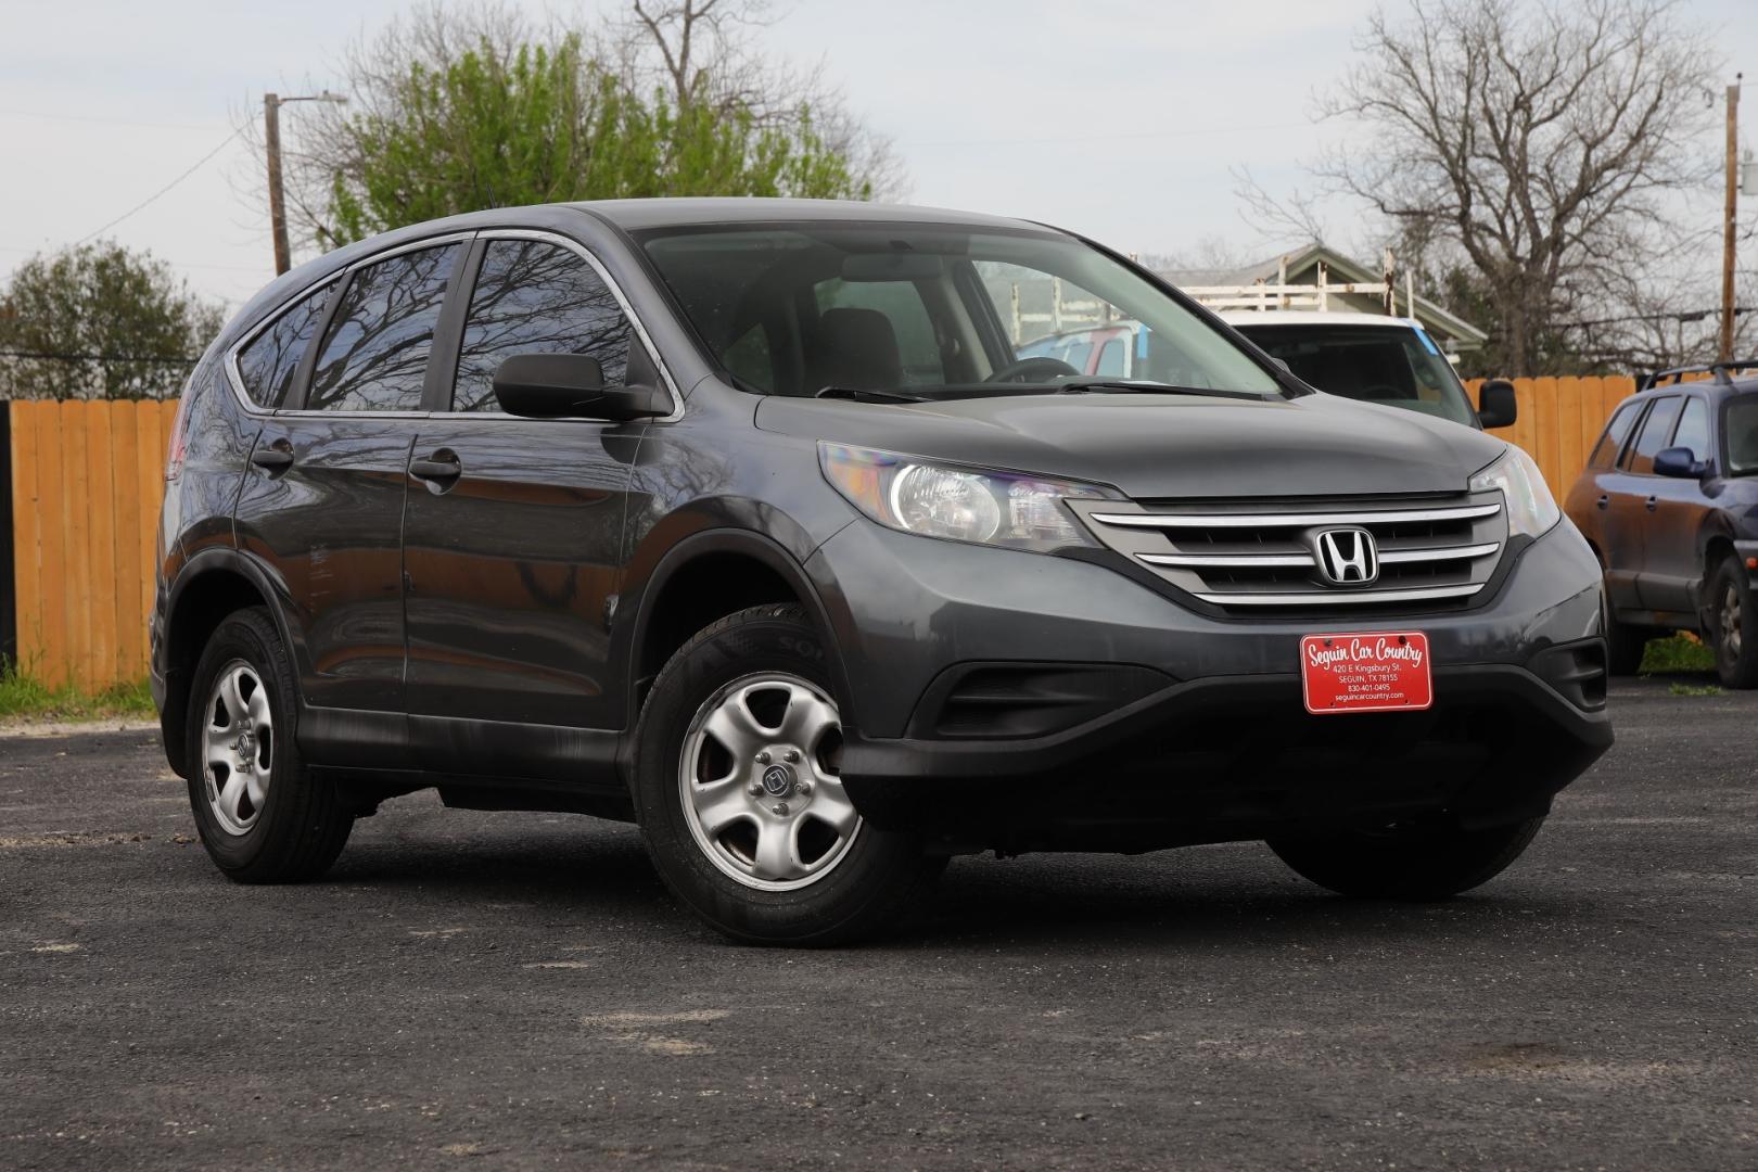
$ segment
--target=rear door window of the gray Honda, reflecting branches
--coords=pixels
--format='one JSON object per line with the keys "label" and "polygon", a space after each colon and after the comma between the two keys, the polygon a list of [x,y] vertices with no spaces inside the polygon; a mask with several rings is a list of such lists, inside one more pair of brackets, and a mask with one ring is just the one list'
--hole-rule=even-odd
{"label": "rear door window of the gray Honda, reflecting branches", "polygon": [[331,320],[306,408],[418,411],[457,244],[403,253],[353,274]]}

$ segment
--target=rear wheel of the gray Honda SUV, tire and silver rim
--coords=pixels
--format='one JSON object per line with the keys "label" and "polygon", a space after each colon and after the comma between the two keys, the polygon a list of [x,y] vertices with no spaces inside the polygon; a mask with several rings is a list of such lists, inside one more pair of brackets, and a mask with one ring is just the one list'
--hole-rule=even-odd
{"label": "rear wheel of the gray Honda SUV, tire and silver rim", "polygon": [[255,606],[222,620],[192,680],[186,775],[207,857],[241,884],[316,879],[353,829],[334,784],[315,778],[299,756],[295,696],[269,611]]}

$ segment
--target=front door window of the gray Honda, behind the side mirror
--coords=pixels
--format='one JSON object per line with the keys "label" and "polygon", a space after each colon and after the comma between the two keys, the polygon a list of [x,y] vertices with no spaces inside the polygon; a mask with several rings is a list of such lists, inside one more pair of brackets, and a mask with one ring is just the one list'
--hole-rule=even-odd
{"label": "front door window of the gray Honda, behind the side mirror", "polygon": [[607,387],[629,367],[629,320],[578,253],[547,241],[489,241],[457,355],[454,411],[499,411],[494,371],[520,353],[598,358]]}

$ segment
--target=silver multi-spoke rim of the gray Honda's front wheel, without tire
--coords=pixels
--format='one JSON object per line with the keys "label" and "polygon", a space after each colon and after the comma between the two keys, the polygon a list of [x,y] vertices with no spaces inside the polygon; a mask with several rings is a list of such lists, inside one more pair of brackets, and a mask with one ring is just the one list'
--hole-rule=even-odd
{"label": "silver multi-spoke rim of the gray Honda's front wheel, without tire", "polygon": [[684,819],[730,879],[793,891],[847,857],[861,817],[842,789],[842,719],[814,684],[749,675],[696,710],[679,759]]}

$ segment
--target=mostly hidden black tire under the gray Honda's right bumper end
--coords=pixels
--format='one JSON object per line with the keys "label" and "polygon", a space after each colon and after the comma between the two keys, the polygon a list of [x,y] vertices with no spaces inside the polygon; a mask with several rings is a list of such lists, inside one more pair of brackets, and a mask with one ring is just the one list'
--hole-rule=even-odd
{"label": "mostly hidden black tire under the gray Honda's right bumper end", "polygon": [[1345,833],[1271,840],[1303,879],[1361,900],[1445,900],[1500,875],[1538,835],[1544,817],[1487,829],[1405,835]]}

